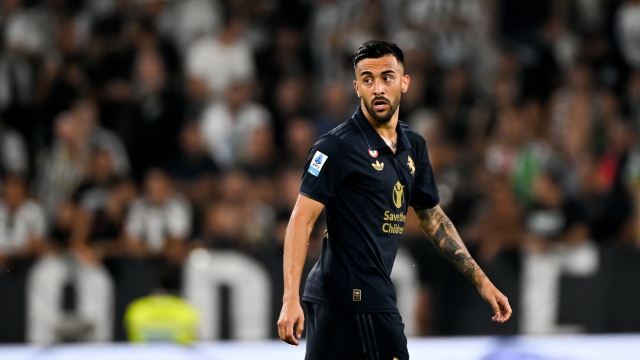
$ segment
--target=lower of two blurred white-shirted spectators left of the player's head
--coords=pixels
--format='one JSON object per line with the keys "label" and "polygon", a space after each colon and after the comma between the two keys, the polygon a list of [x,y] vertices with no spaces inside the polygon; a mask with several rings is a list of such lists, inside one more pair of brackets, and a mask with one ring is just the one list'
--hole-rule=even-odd
{"label": "lower of two blurred white-shirted spectators left of the player's head", "polygon": [[268,127],[271,115],[259,103],[250,100],[247,83],[236,82],[225,101],[205,109],[200,120],[202,136],[210,156],[223,169],[240,165],[251,135],[259,127]]}

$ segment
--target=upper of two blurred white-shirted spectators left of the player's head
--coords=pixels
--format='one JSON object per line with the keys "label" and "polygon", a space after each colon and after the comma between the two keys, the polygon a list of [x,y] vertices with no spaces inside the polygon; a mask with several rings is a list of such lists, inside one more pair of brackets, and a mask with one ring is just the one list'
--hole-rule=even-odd
{"label": "upper of two blurred white-shirted spectators left of the player's head", "polygon": [[246,26],[245,19],[231,17],[219,36],[205,36],[189,47],[185,72],[191,96],[219,99],[234,83],[255,78],[253,51],[242,38]]}

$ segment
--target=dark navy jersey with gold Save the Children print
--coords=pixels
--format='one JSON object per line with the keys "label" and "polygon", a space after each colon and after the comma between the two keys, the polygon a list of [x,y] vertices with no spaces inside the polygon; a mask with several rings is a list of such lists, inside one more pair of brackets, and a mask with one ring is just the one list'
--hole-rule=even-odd
{"label": "dark navy jersey with gold Save the Children print", "polygon": [[439,202],[426,141],[398,122],[394,154],[361,109],[321,136],[300,193],[325,205],[322,253],[304,301],[356,312],[397,312],[391,269],[408,206]]}

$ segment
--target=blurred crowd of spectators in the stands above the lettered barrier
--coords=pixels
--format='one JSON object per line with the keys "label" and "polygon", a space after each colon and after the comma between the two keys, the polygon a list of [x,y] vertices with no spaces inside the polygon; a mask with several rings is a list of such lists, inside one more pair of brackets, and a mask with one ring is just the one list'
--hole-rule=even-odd
{"label": "blurred crowd of spectators in the stands above the lettered barrier", "polygon": [[279,249],[369,39],[479,261],[640,244],[638,0],[3,0],[0,265]]}

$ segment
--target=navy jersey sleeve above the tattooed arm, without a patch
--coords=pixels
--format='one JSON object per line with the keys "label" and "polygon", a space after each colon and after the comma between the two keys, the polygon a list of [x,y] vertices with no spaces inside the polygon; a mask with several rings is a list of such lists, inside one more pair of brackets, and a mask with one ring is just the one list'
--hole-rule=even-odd
{"label": "navy jersey sleeve above the tattooed arm, without a patch", "polygon": [[440,195],[433,175],[427,143],[424,139],[418,143],[416,157],[416,180],[409,205],[416,210],[431,209],[440,203]]}

